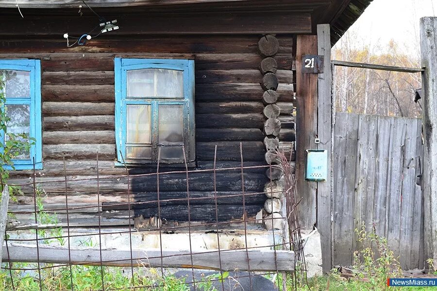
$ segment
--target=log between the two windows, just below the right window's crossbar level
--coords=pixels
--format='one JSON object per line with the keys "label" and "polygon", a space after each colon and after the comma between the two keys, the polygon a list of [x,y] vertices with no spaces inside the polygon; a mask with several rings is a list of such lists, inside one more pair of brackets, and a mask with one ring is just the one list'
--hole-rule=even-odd
{"label": "log between the two windows, just below the right window's crossbar level", "polygon": [[43,116],[114,115],[115,103],[43,102]]}

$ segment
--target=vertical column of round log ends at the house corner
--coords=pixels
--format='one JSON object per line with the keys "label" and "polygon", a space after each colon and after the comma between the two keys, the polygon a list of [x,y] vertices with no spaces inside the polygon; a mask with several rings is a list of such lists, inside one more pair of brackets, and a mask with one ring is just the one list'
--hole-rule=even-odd
{"label": "vertical column of round log ends at the house corner", "polygon": [[275,36],[271,34],[264,35],[258,42],[258,49],[261,56],[264,58],[259,70],[263,75],[261,87],[264,89],[262,100],[264,103],[263,114],[264,122],[264,146],[266,147],[266,162],[269,167],[266,171],[266,176],[269,182],[264,187],[264,193],[267,200],[264,203],[264,225],[267,229],[282,229],[284,219],[280,214],[282,209],[281,198],[284,194],[279,179],[282,177],[282,171],[275,165],[279,164],[276,151],[279,148],[279,134],[281,131],[281,121],[278,117],[281,114],[280,107],[276,104],[278,101],[278,78],[276,70],[278,63],[274,56],[278,53],[279,42]]}

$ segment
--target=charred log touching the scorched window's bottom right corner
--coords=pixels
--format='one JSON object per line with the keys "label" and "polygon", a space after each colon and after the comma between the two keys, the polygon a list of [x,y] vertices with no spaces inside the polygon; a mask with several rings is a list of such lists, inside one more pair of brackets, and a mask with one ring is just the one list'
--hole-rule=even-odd
{"label": "charred log touching the scorched window's bottom right corner", "polygon": [[[217,160],[240,161],[240,142],[196,143],[196,157],[204,161],[214,161],[217,146]],[[264,158],[263,142],[242,142],[243,161],[261,161]]]}

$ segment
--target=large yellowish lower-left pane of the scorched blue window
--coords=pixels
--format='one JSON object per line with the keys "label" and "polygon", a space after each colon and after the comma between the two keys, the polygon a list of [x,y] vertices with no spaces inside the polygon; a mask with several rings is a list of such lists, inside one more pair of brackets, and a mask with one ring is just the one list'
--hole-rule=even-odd
{"label": "large yellowish lower-left pane of the scorched blue window", "polygon": [[127,144],[151,143],[150,111],[150,105],[127,105]]}

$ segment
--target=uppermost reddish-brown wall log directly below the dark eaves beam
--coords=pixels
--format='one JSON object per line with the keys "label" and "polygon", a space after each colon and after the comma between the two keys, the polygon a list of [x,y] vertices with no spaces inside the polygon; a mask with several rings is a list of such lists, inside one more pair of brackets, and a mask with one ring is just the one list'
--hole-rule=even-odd
{"label": "uppermost reddish-brown wall log directly below the dark eaves beam", "polygon": [[[77,21],[75,21],[77,23]],[[94,26],[95,24],[93,24]],[[61,25],[63,31],[66,27]],[[89,27],[86,29],[88,30]],[[70,32],[71,33],[71,32]],[[83,32],[81,32],[83,33]],[[125,32],[124,32],[125,33]],[[166,36],[143,36],[139,38],[123,38],[113,36],[111,39],[96,38],[84,46],[67,48],[64,41],[59,39],[17,39],[2,38],[0,53],[257,53],[257,35],[171,35]],[[279,54],[293,53],[293,38],[284,36],[280,39]]]}

